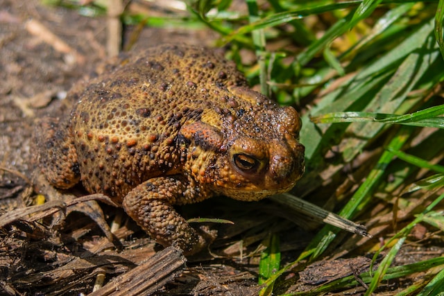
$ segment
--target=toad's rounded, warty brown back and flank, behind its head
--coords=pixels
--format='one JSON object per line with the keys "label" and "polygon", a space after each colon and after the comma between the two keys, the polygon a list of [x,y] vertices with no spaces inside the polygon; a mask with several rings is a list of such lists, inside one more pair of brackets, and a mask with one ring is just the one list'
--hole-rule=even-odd
{"label": "toad's rounded, warty brown back and flank, behind its head", "polygon": [[[82,182],[119,198],[151,177],[178,173],[180,127],[242,102],[226,92],[246,85],[232,62],[205,48],[160,46],[119,60],[78,96],[71,114]],[[207,110],[207,112],[205,112]],[[210,114],[211,113],[211,114]]]}

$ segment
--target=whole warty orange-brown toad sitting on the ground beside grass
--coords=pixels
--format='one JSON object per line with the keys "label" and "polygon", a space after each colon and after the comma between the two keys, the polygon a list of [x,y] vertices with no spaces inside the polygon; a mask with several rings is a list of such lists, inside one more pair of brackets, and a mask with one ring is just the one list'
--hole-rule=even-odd
{"label": "whole warty orange-brown toad sitting on the ground beside grass", "polygon": [[69,96],[71,115],[40,132],[47,180],[110,196],[158,243],[188,254],[205,236],[173,205],[260,200],[304,171],[296,110],[249,89],[233,62],[203,47],[127,54]]}

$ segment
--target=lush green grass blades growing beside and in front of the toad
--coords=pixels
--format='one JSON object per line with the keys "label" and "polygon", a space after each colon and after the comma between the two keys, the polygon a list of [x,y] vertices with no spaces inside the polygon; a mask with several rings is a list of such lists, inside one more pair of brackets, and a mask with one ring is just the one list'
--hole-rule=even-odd
{"label": "lush green grass blades growing beside and in front of the toad", "polygon": [[[348,256],[383,255],[377,270],[359,275],[368,285],[366,295],[377,293],[381,283],[416,272],[425,276],[391,295],[444,290],[442,257],[393,266],[403,245],[415,241],[409,234],[418,223],[443,241],[444,0],[269,0],[266,5],[247,0],[242,11],[230,9],[228,0],[187,3],[189,14],[180,19],[137,14],[122,19],[216,31],[220,38],[214,45],[230,44],[228,58],[252,85],[301,110],[307,173],[296,194],[312,202],[334,200],[341,216],[363,219],[370,233],[385,238],[376,250],[371,241],[342,250]],[[243,49],[255,53],[257,63],[242,64]],[[366,153],[373,157],[361,163],[366,173],[354,175],[356,186],[330,192],[325,201],[323,184],[339,188],[347,178],[341,173],[345,165]],[[376,206],[382,207],[380,216],[366,216]],[[259,270],[265,283],[261,295],[279,290],[280,275],[298,262],[334,255],[346,235],[321,227],[299,258],[278,271],[278,244],[271,239],[273,250],[263,254]],[[291,295],[335,293],[357,285],[354,277],[344,277]]]}

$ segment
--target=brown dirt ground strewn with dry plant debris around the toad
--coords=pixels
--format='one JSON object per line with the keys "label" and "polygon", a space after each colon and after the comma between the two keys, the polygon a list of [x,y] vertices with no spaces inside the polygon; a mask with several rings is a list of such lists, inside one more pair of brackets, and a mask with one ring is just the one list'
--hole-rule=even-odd
{"label": "brown dirt ground strewn with dry plant debris around the toad", "polygon": [[[0,214],[33,202],[35,142],[31,134],[35,121],[66,114],[70,103],[63,98],[67,90],[105,60],[105,26],[104,17],[83,17],[76,10],[42,6],[36,0],[0,0]],[[211,44],[215,37],[205,30],[144,28],[135,49],[172,41]],[[122,295],[137,294],[124,290],[125,279],[137,276],[151,285],[144,293],[153,295],[257,295],[262,250],[258,246],[270,229],[291,234],[281,236],[282,264],[296,260],[313,236],[282,218],[286,214],[268,200],[246,204],[215,198],[180,211],[188,217],[205,212],[232,220],[235,227],[217,226],[219,238],[211,252],[184,259],[176,249],[160,251],[121,209],[102,206],[108,223],[122,220],[114,244],[91,218],[76,212],[75,205],[64,222],[53,227],[45,216],[63,207],[61,204],[44,206],[34,213],[32,223],[21,218],[23,212],[12,217],[11,223],[0,228],[0,295],[86,295],[92,292],[98,275],[105,275],[105,284],[120,284]],[[357,242],[355,236],[348,241]],[[403,252],[410,255],[398,260],[414,262],[413,249],[407,247]],[[423,248],[420,258],[440,252],[436,247]],[[296,266],[283,277],[287,283],[278,292],[305,290],[368,268],[369,259],[364,256],[341,260],[348,261],[323,263],[322,274],[315,265],[296,275],[305,268]],[[136,269],[137,265],[142,269]],[[356,270],[343,270],[350,265],[357,266]],[[161,278],[153,278],[153,274]]]}

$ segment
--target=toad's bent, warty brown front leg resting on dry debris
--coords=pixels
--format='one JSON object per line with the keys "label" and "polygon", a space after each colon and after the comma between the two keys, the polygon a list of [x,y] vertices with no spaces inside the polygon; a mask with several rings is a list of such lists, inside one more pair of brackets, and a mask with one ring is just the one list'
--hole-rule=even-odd
{"label": "toad's bent, warty brown front leg resting on dry debris", "polygon": [[190,196],[187,186],[172,177],[150,179],[130,191],[123,199],[126,213],[161,245],[175,243],[185,254],[203,249],[214,233],[200,234],[173,208],[173,204],[187,204],[202,200]]}

